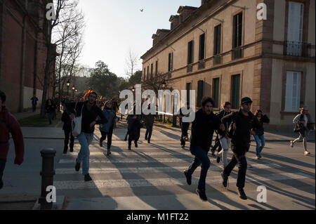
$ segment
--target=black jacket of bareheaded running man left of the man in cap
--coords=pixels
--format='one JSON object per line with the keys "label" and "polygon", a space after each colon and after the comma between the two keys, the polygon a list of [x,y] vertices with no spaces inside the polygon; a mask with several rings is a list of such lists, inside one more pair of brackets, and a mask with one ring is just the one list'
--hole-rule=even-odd
{"label": "black jacket of bareheaded running man left of the man in cap", "polygon": [[209,152],[214,130],[218,130],[221,135],[225,133],[225,131],[220,131],[220,124],[220,119],[213,112],[206,115],[202,109],[198,110],[195,113],[195,121],[192,122],[191,145],[202,147],[203,150]]}

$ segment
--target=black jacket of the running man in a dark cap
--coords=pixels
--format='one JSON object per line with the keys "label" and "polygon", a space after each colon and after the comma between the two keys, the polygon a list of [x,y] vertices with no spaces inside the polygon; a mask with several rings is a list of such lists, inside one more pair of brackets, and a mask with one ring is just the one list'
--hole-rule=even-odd
{"label": "black jacket of the running man in a dark cap", "polygon": [[242,110],[239,110],[239,112],[233,112],[222,119],[224,124],[232,122],[232,129],[229,130],[232,145],[245,147],[246,150],[249,150],[251,129],[257,129],[259,125],[259,121],[254,114],[251,112],[248,112],[248,114],[249,117],[244,118]]}

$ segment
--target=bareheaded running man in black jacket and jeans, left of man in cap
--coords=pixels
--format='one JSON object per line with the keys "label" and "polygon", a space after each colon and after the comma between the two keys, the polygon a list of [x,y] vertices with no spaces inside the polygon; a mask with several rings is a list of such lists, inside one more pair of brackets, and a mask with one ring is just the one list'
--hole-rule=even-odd
{"label": "bareheaded running man in black jacket and jeans, left of man in cap", "polygon": [[187,171],[184,171],[187,178],[187,184],[191,185],[192,173],[197,167],[202,164],[201,175],[199,177],[199,185],[197,187],[197,194],[202,201],[206,202],[205,194],[205,179],[206,174],[211,165],[207,153],[211,146],[211,136],[214,130],[218,130],[223,135],[225,126],[220,123],[220,119],[213,114],[214,101],[211,98],[204,98],[202,100],[202,109],[196,112],[195,121],[192,122],[192,135],[190,152],[195,155],[195,160]]}

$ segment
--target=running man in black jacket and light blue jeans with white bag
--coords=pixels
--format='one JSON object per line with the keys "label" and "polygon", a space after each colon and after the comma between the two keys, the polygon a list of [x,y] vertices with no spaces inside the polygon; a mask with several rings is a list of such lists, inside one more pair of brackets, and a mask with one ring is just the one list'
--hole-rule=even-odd
{"label": "running man in black jacket and light blue jeans with white bag", "polygon": [[[77,136],[79,143],[81,145],[80,152],[76,159],[76,171],[79,171],[80,164],[82,162],[82,175],[84,175],[85,181],[90,181],[91,176],[88,173],[89,170],[89,147],[93,139],[94,126],[96,124],[105,124],[107,119],[105,118],[102,110],[96,105],[97,94],[92,92],[88,95],[88,101],[86,102],[77,102],[77,103],[65,103],[67,112],[70,114],[70,118],[74,119],[75,114],[77,116],[81,115],[81,133]],[[100,120],[96,121],[97,117],[100,117]]]}

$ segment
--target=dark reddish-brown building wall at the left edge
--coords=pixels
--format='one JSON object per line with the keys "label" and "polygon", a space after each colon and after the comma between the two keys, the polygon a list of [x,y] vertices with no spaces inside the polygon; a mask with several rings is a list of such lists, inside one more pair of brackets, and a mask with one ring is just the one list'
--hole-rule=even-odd
{"label": "dark reddish-brown building wall at the left edge", "polygon": [[[32,107],[30,98],[34,94],[39,98],[37,106],[41,105],[47,50],[41,32],[43,1],[0,0],[0,89],[7,95],[6,105],[11,112]],[[51,48],[53,77],[56,48],[53,44]],[[47,97],[51,96],[50,86]]]}

